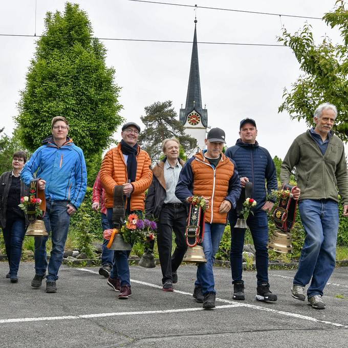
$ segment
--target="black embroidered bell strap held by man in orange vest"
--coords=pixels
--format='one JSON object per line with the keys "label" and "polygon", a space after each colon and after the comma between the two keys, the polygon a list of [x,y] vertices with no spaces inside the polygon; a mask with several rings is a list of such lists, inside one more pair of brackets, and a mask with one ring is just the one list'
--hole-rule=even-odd
{"label": "black embroidered bell strap held by man in orange vest", "polygon": [[203,241],[205,213],[200,206],[190,204],[187,226],[185,229],[186,244],[194,247]]}

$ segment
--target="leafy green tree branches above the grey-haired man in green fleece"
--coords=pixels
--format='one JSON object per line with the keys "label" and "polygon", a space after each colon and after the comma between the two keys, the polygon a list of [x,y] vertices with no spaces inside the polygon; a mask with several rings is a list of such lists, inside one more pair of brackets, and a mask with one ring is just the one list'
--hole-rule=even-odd
{"label": "leafy green tree branches above the grey-haired man in green fleece", "polygon": [[278,111],[287,111],[292,119],[304,119],[310,126],[313,113],[322,102],[336,105],[338,117],[334,130],[339,137],[348,140],[348,10],[344,2],[336,2],[336,9],[323,16],[331,28],[338,27],[343,45],[334,46],[328,37],[321,44],[314,42],[311,26],[306,24],[301,31],[291,35],[286,29],[278,38],[289,46],[304,72],[291,91],[284,90],[284,102]]}

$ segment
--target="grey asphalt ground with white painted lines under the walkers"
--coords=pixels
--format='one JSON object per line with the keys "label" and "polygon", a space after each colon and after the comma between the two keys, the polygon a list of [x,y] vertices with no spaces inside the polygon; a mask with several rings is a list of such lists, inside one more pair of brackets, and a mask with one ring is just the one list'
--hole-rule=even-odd
{"label": "grey asphalt ground with white painted lines under the walkers", "polygon": [[293,299],[294,270],[270,270],[276,303],[255,300],[254,271],[244,272],[246,300],[233,301],[230,269],[214,267],[216,309],[191,296],[195,266],[179,268],[175,292],[161,290],[161,269],[130,267],[133,295],[119,300],[98,268],[62,266],[58,292],[30,282],[34,264],[21,263],[19,282],[0,263],[0,347],[347,347],[348,268],[325,288],[327,309]]}

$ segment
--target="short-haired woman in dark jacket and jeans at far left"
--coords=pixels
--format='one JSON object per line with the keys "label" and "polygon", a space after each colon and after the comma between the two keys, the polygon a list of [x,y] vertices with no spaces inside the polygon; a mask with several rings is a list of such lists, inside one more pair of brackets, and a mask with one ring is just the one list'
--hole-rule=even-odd
{"label": "short-haired woman in dark jacket and jeans at far left", "polygon": [[3,229],[6,254],[10,272],[6,278],[12,283],[18,281],[17,272],[20,262],[21,249],[26,233],[26,217],[18,207],[20,197],[28,195],[28,187],[20,181],[20,171],[27,161],[24,151],[13,154],[12,170],[0,177],[0,226]]}

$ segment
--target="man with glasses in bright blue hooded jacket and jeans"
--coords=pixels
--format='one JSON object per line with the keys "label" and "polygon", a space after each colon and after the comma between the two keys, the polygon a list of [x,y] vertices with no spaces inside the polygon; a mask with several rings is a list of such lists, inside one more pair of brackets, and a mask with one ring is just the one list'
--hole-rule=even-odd
{"label": "man with glasses in bright blue hooded jacket and jeans", "polygon": [[40,288],[45,278],[46,292],[57,292],[56,280],[67,240],[70,215],[81,205],[86,192],[87,171],[82,150],[68,137],[68,121],[61,116],[52,119],[52,136],[42,141],[20,173],[29,185],[37,170],[38,188],[45,189],[45,227],[51,231],[52,251],[47,264],[48,237],[35,237],[35,276],[33,288]]}

